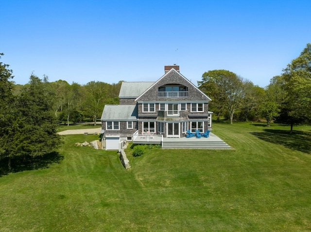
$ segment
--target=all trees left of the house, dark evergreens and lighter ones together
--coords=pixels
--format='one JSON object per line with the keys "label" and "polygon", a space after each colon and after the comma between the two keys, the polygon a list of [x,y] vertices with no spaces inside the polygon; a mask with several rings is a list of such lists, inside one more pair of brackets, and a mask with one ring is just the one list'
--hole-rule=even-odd
{"label": "all trees left of the house, dark evergreens and lighter ones together", "polygon": [[80,85],[32,74],[27,84],[16,85],[12,74],[9,65],[0,62],[0,164],[7,162],[9,169],[12,160],[27,163],[56,151],[62,143],[59,124],[86,119],[96,124],[105,104],[119,104],[121,81]]}

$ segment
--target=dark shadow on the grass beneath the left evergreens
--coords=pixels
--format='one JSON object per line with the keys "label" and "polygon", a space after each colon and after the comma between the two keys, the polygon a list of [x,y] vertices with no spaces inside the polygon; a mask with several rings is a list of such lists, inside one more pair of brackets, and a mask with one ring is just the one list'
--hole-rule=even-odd
{"label": "dark shadow on the grass beneath the left evergreens", "polygon": [[20,158],[15,158],[11,160],[11,168],[8,168],[8,160],[3,159],[0,163],[0,177],[8,173],[15,173],[25,170],[38,170],[47,169],[52,165],[59,164],[64,159],[63,155],[58,152],[51,152],[49,154],[38,156],[38,157],[28,157],[26,162],[22,162]]}

